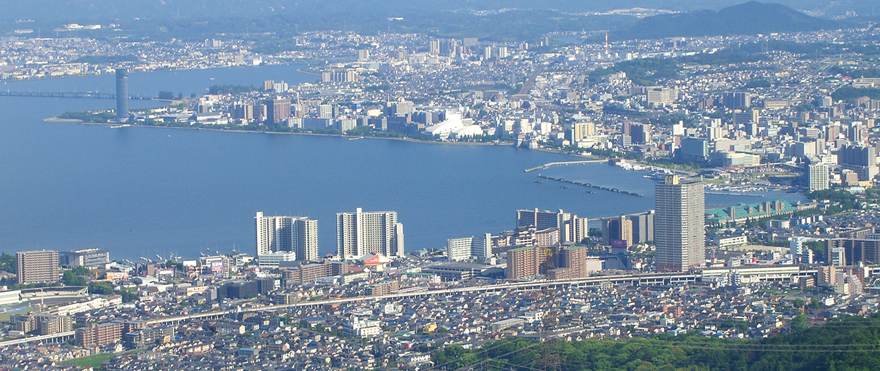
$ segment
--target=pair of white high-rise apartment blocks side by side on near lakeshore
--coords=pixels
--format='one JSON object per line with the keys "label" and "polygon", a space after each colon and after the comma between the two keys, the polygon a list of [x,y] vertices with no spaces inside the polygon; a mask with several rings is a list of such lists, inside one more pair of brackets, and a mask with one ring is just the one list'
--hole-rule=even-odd
{"label": "pair of white high-rise apartment blocks side by side on near lakeshore", "polygon": [[[304,216],[265,216],[261,212],[255,220],[260,266],[319,259],[317,220]],[[364,212],[358,207],[354,213],[336,214],[336,251],[343,259],[369,253],[403,256],[403,224],[397,222],[397,212]]]}

